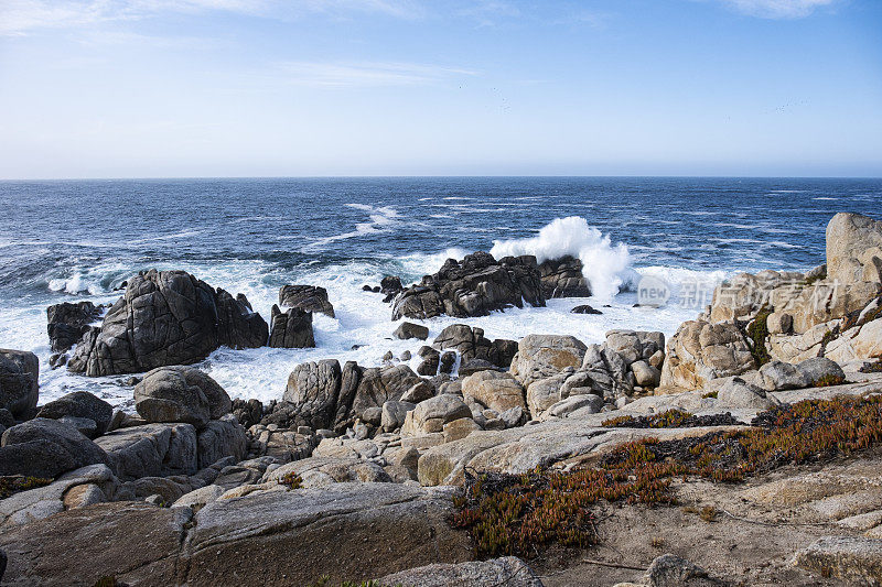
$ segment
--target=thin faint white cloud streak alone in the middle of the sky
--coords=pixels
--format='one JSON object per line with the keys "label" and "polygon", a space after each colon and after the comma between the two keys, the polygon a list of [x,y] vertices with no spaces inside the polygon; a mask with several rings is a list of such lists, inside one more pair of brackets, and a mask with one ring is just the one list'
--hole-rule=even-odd
{"label": "thin faint white cloud streak alone in the middle of the sky", "polygon": [[299,86],[377,87],[437,84],[477,72],[417,63],[284,62],[276,65],[272,75]]}

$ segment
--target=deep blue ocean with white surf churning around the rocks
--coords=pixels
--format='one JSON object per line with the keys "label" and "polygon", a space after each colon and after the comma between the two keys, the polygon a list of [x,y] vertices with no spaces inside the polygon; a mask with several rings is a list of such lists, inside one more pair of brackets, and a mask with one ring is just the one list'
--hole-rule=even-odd
{"label": "deep blue ocean with white surf churning around the rocks", "polygon": [[[322,358],[377,366],[395,340],[391,308],[362,291],[384,275],[410,283],[449,258],[564,253],[587,265],[594,296],[552,300],[450,324],[490,338],[606,330],[673,334],[741,271],[806,271],[825,260],[837,211],[879,216],[882,180],[701,177],[372,177],[0,182],[0,348],[41,360],[40,403],[87,390],[130,407],[125,377],[85,378],[49,367],[46,306],[110,303],[132,274],[183,269],[245,293],[268,322],[288,283],[327,289],[336,318],[314,316],[314,349],[222,348],[198,367],[234,398],[281,398],[300,362]],[[633,307],[642,275],[674,292],[660,308]],[[688,301],[687,301],[688,298]],[[569,311],[591,304],[602,315]],[[609,307],[606,307],[609,306]],[[353,350],[354,346],[358,346]]]}

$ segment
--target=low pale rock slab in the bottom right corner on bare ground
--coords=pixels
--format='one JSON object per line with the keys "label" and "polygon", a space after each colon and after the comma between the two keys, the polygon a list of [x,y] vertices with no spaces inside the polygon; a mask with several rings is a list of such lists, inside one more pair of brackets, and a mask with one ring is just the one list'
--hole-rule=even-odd
{"label": "low pale rock slab in the bottom right corner on bare ground", "polygon": [[882,585],[882,540],[825,536],[798,551],[794,563],[856,585]]}

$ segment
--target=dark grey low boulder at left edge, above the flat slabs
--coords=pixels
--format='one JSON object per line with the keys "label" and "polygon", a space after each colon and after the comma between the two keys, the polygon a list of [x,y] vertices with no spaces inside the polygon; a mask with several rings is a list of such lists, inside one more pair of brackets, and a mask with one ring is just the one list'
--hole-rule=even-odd
{"label": "dark grey low boulder at left edge, above the flat slabs", "polygon": [[0,475],[54,479],[98,464],[112,465],[100,446],[57,420],[29,420],[6,431],[0,439]]}

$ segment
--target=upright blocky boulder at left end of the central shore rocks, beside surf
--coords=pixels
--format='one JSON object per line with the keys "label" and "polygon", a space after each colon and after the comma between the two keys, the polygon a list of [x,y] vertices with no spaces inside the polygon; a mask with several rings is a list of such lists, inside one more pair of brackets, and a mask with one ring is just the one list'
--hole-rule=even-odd
{"label": "upright blocky boulder at left end of the central shore rocks, beside surf", "polygon": [[343,373],[336,359],[298,365],[288,377],[283,399],[294,405],[297,426],[333,427]]}

